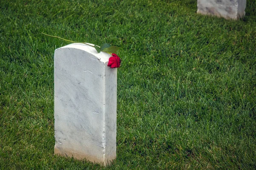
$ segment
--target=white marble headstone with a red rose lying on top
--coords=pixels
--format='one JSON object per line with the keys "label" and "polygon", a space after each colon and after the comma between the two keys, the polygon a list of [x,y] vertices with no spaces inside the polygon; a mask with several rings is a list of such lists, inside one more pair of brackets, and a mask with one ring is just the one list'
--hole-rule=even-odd
{"label": "white marble headstone with a red rose lying on top", "polygon": [[54,153],[104,165],[116,159],[116,68],[74,43],[54,54]]}

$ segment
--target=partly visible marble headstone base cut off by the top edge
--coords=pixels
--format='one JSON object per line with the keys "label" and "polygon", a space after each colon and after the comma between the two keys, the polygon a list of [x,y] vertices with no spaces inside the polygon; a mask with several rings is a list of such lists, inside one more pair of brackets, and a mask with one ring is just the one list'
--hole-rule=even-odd
{"label": "partly visible marble headstone base cut off by the top edge", "polygon": [[198,0],[197,13],[238,20],[244,17],[245,7],[246,0]]}

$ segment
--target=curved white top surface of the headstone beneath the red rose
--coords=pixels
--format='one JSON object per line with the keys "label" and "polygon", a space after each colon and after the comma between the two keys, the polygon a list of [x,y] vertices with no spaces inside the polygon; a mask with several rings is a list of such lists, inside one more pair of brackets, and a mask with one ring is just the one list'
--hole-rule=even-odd
{"label": "curved white top surface of the headstone beneath the red rose", "polygon": [[[87,43],[87,42],[86,42]],[[87,43],[87,44],[90,44],[90,43]],[[90,45],[94,45],[94,44],[90,44]],[[90,45],[86,45],[86,44],[83,44],[83,43],[73,43],[73,44],[69,44],[69,45],[66,45],[64,47],[61,47],[61,48],[57,48],[56,50],[61,50],[63,48],[73,48],[73,49],[78,49],[78,50],[82,50],[82,51],[85,51],[89,54],[92,54],[93,57],[95,57],[95,59],[98,59],[99,61],[101,62],[108,62],[108,59],[109,57],[111,57],[111,54],[108,54],[106,52],[100,52],[98,53],[96,51],[96,49]]]}

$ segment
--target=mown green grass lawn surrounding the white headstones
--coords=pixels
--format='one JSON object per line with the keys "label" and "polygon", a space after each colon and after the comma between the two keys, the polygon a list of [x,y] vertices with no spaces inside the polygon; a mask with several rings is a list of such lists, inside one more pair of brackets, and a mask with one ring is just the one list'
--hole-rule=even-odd
{"label": "mown green grass lawn surrounding the white headstones", "polygon": [[101,169],[54,155],[53,54],[119,46],[117,159],[106,169],[256,169],[256,2],[238,21],[196,0],[0,5],[0,169]]}

